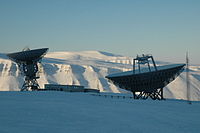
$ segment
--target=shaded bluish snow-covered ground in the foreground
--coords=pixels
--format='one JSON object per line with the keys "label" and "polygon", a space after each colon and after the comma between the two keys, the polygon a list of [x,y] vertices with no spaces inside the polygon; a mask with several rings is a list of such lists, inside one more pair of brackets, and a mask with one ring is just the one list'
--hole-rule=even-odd
{"label": "shaded bluish snow-covered ground in the foreground", "polygon": [[200,102],[0,92],[0,133],[198,133]]}

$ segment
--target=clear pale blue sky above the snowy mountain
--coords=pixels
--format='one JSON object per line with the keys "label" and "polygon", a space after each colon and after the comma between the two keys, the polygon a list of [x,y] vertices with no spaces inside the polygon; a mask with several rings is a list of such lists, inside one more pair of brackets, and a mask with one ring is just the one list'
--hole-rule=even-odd
{"label": "clear pale blue sky above the snowy mountain", "polygon": [[200,0],[0,0],[0,52],[25,46],[200,64]]}

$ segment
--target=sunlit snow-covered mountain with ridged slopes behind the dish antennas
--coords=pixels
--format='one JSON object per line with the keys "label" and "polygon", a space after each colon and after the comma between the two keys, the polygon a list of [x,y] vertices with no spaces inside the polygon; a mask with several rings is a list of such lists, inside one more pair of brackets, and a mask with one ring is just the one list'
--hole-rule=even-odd
{"label": "sunlit snow-covered mountain with ridged slopes behind the dish antennas", "polygon": [[[158,65],[168,64],[157,62]],[[99,89],[101,92],[123,93],[109,83],[105,76],[132,69],[132,58],[102,51],[52,52],[47,53],[39,65],[38,80],[41,88],[47,83],[84,85]],[[200,100],[200,66],[190,67],[191,97]],[[23,75],[17,65],[5,54],[0,54],[0,90],[19,90]],[[127,92],[126,92],[127,93]],[[183,72],[164,89],[164,97],[186,99],[186,76]]]}

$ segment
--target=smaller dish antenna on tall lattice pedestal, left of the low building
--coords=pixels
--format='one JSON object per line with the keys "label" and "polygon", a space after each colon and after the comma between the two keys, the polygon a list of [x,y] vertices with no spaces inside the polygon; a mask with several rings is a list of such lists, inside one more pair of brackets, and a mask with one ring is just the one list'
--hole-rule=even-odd
{"label": "smaller dish antenna on tall lattice pedestal, left of the low building", "polygon": [[24,84],[21,91],[38,90],[40,87],[37,83],[39,77],[36,76],[38,72],[38,62],[47,53],[48,48],[24,49],[22,52],[9,53],[7,56],[14,62],[16,62],[21,71],[24,73]]}

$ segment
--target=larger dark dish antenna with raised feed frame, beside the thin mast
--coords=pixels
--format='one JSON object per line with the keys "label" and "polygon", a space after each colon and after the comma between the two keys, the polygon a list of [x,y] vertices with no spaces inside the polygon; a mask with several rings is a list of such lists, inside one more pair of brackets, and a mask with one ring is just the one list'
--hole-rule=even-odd
{"label": "larger dark dish antenna with raised feed frame, beside the thin mast", "polygon": [[[149,59],[152,60],[153,67],[150,67]],[[138,64],[137,73],[136,64]],[[145,72],[142,72],[141,64],[147,64]],[[184,66],[185,64],[180,64],[158,69],[151,55],[142,55],[133,60],[132,74],[124,72],[127,74],[108,75],[106,78],[120,88],[131,91],[134,99],[163,100],[163,88],[183,71]]]}

